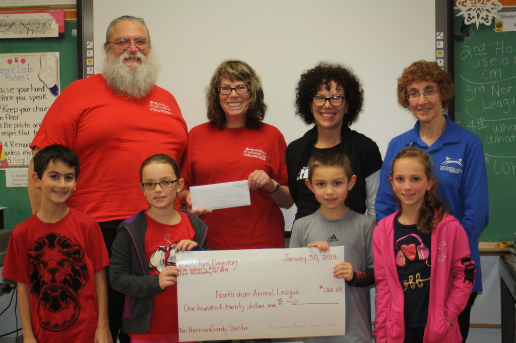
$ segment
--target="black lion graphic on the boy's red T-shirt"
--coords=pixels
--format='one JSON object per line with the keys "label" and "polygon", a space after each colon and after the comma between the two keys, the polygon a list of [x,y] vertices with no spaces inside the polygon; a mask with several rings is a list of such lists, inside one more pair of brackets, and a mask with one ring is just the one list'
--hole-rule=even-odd
{"label": "black lion graphic on the boy's red T-shirt", "polygon": [[79,293],[89,280],[84,249],[66,236],[49,233],[29,250],[29,287],[38,298],[41,327],[68,329],[80,313]]}

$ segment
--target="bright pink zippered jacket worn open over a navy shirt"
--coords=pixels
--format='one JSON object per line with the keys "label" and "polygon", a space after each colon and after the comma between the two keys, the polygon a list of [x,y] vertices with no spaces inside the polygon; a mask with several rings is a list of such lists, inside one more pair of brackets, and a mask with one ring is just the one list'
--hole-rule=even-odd
{"label": "bright pink zippered jacket worn open over a navy shirt", "polygon": [[[403,288],[394,253],[394,219],[380,220],[373,232],[376,280],[375,335],[377,343],[402,343],[405,338]],[[457,316],[464,309],[475,281],[475,266],[464,228],[449,214],[432,231],[430,300],[423,343],[459,343]],[[451,326],[448,327],[449,321]]]}

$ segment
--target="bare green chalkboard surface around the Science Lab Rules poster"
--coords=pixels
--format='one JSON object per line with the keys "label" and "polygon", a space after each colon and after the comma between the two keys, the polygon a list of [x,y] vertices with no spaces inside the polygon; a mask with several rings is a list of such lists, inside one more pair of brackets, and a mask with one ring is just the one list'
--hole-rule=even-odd
{"label": "bare green chalkboard surface around the Science Lab Rules poster", "polygon": [[[65,89],[77,79],[77,38],[74,31],[76,28],[76,23],[65,23],[64,39],[5,39],[0,41],[0,53],[59,52],[60,89]],[[0,170],[0,206],[7,207],[4,211],[6,229],[14,228],[31,215],[27,188],[7,188],[4,170]]]}

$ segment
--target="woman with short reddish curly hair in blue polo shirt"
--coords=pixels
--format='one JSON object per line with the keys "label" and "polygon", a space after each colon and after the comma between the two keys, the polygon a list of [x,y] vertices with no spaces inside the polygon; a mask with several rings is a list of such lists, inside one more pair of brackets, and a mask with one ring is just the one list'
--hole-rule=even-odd
{"label": "woman with short reddish curly hair in blue polo shirt", "polygon": [[451,78],[436,62],[415,61],[398,78],[398,103],[410,109],[417,122],[414,128],[394,137],[385,153],[376,197],[376,219],[397,209],[389,182],[391,161],[402,148],[413,146],[431,155],[438,193],[449,204],[449,213],[466,231],[471,258],[475,261],[475,284],[470,301],[458,321],[465,341],[470,310],[477,292],[482,291],[478,239],[489,219],[486,162],[480,139],[443,114],[455,94]]}

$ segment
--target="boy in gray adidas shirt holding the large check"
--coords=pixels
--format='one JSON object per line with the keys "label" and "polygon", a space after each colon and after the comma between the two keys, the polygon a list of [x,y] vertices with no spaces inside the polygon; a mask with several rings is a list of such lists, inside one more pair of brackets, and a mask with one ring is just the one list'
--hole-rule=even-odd
{"label": "boy in gray adidas shirt holding the large check", "polygon": [[[327,252],[344,246],[345,261],[333,266],[333,276],[346,280],[346,334],[305,337],[305,343],[370,343],[369,285],[374,284],[371,240],[374,220],[348,208],[344,201],[357,179],[349,158],[333,149],[317,151],[308,163],[308,188],[320,204],[312,215],[299,218],[292,227],[290,248],[316,247]],[[329,271],[328,271],[329,272]]]}

